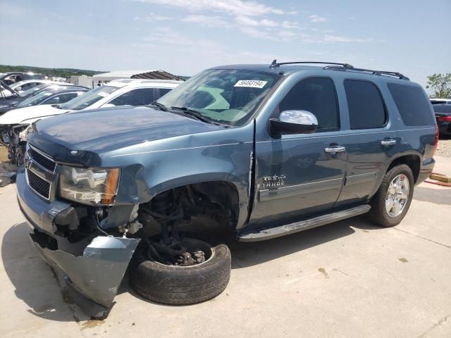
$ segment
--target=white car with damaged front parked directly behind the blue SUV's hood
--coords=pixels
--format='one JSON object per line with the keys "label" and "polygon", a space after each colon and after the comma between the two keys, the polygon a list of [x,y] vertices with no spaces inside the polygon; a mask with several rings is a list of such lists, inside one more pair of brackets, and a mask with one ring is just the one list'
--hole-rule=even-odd
{"label": "white car with damaged front parked directly behind the blue SUV's hood", "polygon": [[113,80],[64,104],[13,109],[0,116],[0,144],[8,146],[11,163],[21,164],[25,151],[24,130],[31,123],[71,111],[113,106],[144,106],[156,101],[182,82],[141,79]]}

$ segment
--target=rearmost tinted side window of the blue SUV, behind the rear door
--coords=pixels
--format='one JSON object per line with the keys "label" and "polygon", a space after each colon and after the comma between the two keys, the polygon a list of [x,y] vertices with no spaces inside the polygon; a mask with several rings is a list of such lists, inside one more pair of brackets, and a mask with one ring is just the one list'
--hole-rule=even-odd
{"label": "rearmost tinted side window of the blue SUV, behind the rear door", "polygon": [[395,100],[404,125],[433,125],[435,123],[428,99],[420,87],[389,83],[388,90]]}

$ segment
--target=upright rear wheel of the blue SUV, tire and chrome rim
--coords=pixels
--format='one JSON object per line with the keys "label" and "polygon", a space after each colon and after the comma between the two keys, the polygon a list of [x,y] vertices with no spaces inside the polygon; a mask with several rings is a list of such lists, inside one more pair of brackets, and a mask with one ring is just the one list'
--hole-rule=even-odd
{"label": "upright rear wheel of the blue SUV, tire and chrome rim", "polygon": [[397,165],[385,174],[371,199],[368,217],[377,225],[393,227],[409,210],[414,194],[414,175],[408,165]]}

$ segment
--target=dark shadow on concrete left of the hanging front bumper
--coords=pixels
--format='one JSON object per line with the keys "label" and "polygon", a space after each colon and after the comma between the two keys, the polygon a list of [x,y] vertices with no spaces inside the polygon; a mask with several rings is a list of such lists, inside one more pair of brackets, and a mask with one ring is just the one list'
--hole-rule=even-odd
{"label": "dark shadow on concrete left of the hanging front bumper", "polygon": [[4,234],[1,243],[4,269],[18,299],[30,307],[27,310],[29,313],[40,318],[61,322],[88,320],[88,316],[80,316],[80,311],[75,317],[75,306],[65,303],[65,294],[49,265],[42,260],[32,245],[29,233],[30,227],[27,223],[13,225]]}

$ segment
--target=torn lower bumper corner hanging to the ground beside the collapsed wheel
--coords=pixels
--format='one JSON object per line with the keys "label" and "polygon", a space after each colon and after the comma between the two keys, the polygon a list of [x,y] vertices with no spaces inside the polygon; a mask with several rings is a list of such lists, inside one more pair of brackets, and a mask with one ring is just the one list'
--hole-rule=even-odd
{"label": "torn lower bumper corner hanging to the ground beside the collapsed wheel", "polygon": [[[140,239],[94,237],[83,250],[82,256],[74,256],[66,251],[51,248],[46,234],[35,232],[30,234],[30,237],[42,258],[52,268],[63,273],[70,287],[104,308],[95,304],[89,308],[81,307],[89,315],[97,318],[106,317]],[[99,311],[99,308],[103,311]]]}

